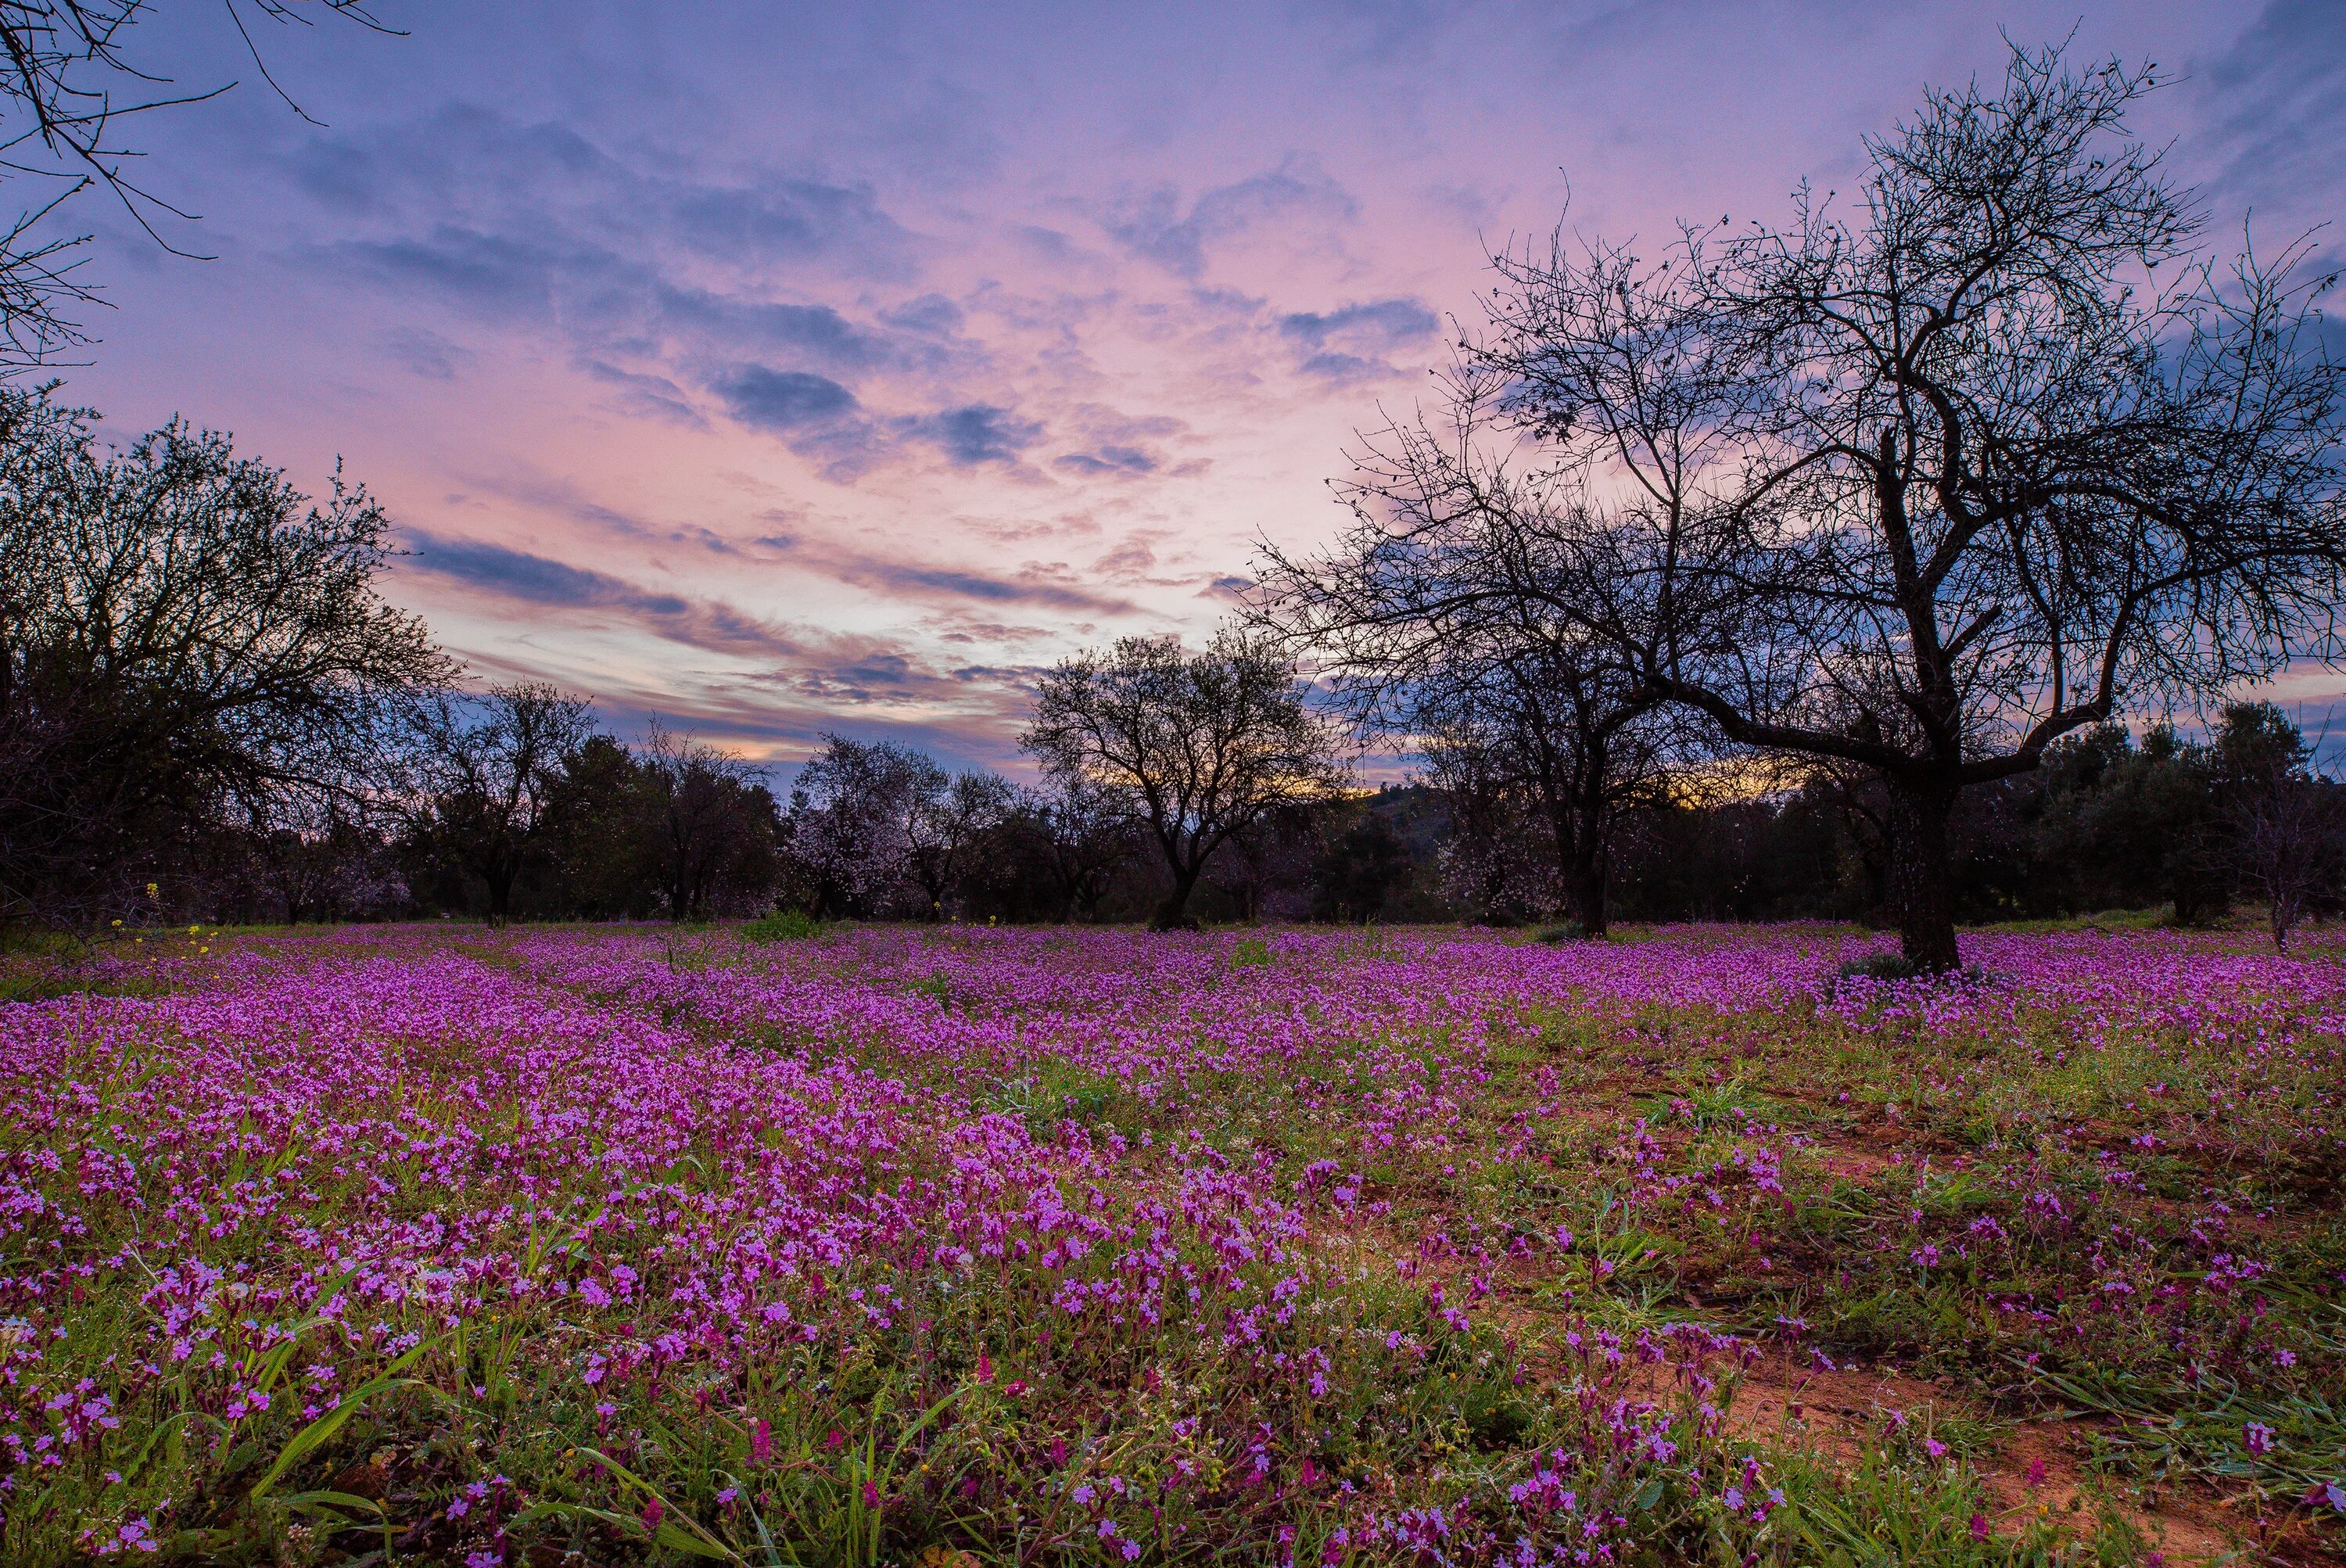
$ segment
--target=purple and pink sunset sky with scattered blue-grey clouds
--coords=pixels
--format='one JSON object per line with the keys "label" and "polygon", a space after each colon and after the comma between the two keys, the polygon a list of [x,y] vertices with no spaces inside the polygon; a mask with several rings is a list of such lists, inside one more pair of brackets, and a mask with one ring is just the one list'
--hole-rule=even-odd
{"label": "purple and pink sunset sky with scattered blue-grey clouds", "polygon": [[209,258],[84,204],[68,392],[340,462],[472,681],[781,763],[1016,763],[1035,671],[1206,636],[1262,540],[1342,526],[1492,249],[1781,218],[2006,35],[2172,73],[2137,124],[2217,237],[2346,218],[2346,0],[375,14],[256,23],[300,113],[216,7],[141,23],[150,70],[239,82],[136,129]]}

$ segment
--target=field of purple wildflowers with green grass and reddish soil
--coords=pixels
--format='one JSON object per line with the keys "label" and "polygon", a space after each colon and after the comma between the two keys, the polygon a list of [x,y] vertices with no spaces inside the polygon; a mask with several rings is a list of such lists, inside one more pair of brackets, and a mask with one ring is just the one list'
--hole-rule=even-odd
{"label": "field of purple wildflowers with green grass and reddish soil", "polygon": [[0,1559],[2346,1549],[2346,951],[145,934],[0,965]]}

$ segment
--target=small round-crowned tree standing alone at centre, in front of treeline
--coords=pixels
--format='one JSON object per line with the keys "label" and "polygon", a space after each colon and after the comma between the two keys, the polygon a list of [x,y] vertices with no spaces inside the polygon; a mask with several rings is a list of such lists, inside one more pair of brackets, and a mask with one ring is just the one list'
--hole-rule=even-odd
{"label": "small round-crowned tree standing alone at centre, in front of treeline", "polygon": [[1236,631],[1194,655],[1180,638],[1128,636],[1060,662],[1021,746],[1063,789],[1114,791],[1145,824],[1171,876],[1157,930],[1194,925],[1189,894],[1234,833],[1347,777],[1295,664]]}

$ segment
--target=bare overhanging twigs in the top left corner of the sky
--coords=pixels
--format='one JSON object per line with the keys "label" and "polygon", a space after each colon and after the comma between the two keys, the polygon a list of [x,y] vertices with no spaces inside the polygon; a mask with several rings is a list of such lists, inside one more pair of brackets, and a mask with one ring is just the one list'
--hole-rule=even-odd
{"label": "bare overhanging twigs in the top left corner of the sky", "polygon": [[[310,21],[328,14],[375,33],[392,33],[364,0],[223,0],[253,68],[300,113],[270,77],[253,21]],[[152,14],[148,0],[7,0],[0,5],[0,178],[28,181],[33,200],[0,221],[0,369],[40,364],[56,350],[87,343],[75,305],[96,298],[80,272],[89,235],[59,230],[61,209],[87,190],[115,197],[124,214],[160,246],[178,246],[164,228],[188,214],[131,176],[136,148],[124,122],[162,108],[216,99],[235,82],[185,89],[131,56],[136,23]],[[307,115],[303,115],[307,120]]]}

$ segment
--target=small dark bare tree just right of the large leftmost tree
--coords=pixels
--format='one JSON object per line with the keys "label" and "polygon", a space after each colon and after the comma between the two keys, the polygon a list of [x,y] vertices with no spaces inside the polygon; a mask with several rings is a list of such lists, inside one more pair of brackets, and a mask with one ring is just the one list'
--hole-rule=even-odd
{"label": "small dark bare tree just right of the large leftmost tree", "polygon": [[488,887],[488,918],[514,908],[514,880],[547,847],[563,763],[594,735],[594,709],[544,683],[439,690],[413,718],[413,810],[441,852]]}

